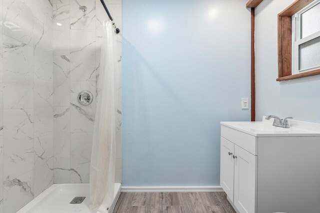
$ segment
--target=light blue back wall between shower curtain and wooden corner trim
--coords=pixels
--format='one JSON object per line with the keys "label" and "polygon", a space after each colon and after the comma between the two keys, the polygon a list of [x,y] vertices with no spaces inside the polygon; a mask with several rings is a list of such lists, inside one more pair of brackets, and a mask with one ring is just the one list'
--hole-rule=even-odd
{"label": "light blue back wall between shower curtain and wooden corner trim", "polygon": [[122,0],[123,186],[219,186],[220,121],[248,121],[247,0]]}

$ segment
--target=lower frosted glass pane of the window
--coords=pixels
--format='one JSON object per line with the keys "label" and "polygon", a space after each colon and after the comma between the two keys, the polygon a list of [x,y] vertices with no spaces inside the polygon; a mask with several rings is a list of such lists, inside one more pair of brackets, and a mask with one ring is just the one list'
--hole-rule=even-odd
{"label": "lower frosted glass pane of the window", "polygon": [[320,66],[320,37],[299,45],[299,70]]}

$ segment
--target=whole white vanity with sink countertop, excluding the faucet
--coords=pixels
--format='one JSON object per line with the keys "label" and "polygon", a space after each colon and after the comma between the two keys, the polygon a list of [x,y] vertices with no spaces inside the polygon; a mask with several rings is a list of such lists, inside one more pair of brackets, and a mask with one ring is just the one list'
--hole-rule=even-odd
{"label": "whole white vanity with sink countertop, excluding the faucet", "polygon": [[320,124],[289,125],[221,122],[220,186],[237,213],[320,213]]}

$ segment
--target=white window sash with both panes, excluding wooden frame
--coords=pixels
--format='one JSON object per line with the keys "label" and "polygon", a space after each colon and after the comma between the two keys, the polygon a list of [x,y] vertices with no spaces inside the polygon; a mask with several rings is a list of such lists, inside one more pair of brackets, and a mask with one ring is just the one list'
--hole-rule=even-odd
{"label": "white window sash with both panes, excluding wooden frame", "polygon": [[320,69],[320,0],[292,15],[292,75]]}

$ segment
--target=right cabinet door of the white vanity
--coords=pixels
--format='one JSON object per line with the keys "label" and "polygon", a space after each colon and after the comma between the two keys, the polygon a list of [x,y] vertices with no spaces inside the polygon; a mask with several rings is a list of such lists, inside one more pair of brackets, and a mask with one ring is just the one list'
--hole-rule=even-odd
{"label": "right cabinet door of the white vanity", "polygon": [[257,157],[234,145],[234,206],[240,213],[256,213]]}

